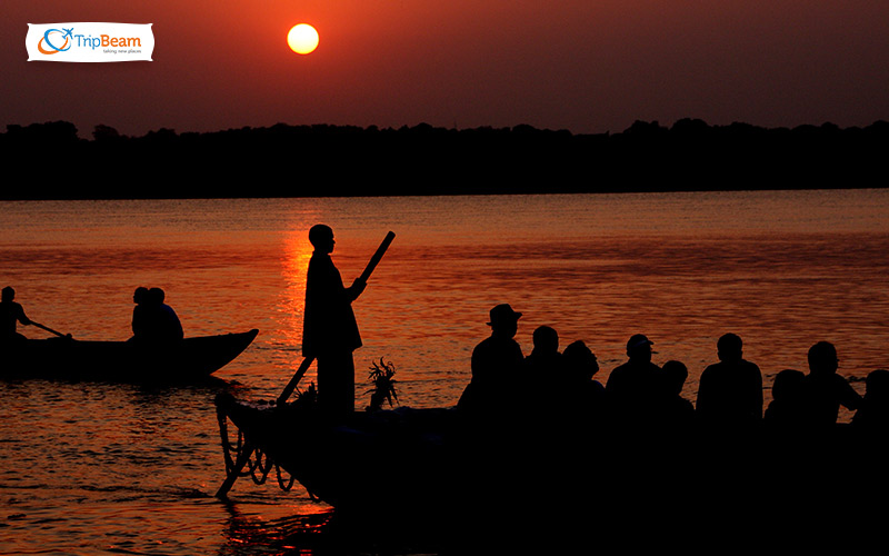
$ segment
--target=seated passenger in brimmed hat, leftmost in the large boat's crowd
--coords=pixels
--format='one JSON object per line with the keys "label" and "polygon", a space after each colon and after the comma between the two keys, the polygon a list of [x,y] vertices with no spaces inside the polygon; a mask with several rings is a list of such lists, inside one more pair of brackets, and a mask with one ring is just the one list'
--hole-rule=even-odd
{"label": "seated passenger in brimmed hat, leftmost in the large boat's crowd", "polygon": [[515,340],[521,312],[508,304],[490,310],[491,335],[472,350],[472,378],[457,407],[475,414],[492,414],[515,403],[516,374],[525,355]]}

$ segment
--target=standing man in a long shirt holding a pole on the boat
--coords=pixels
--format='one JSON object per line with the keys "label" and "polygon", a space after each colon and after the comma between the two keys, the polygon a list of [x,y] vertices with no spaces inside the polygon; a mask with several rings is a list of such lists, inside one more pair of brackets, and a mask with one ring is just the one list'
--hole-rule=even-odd
{"label": "standing man in a long shirt holding a pole on the boat", "polygon": [[333,230],[319,224],[309,230],[314,252],[306,277],[306,312],[302,355],[318,361],[318,405],[330,417],[347,417],[354,410],[354,360],[361,335],[352,301],[367,284],[360,278],[344,287],[330,259]]}

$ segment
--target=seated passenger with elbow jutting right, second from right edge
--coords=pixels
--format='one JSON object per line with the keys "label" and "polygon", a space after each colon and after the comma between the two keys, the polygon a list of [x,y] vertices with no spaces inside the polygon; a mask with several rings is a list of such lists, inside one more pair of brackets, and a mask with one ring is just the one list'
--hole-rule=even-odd
{"label": "seated passenger with elbow jutting right, second from right edge", "polygon": [[819,341],[809,348],[808,360],[809,374],[802,380],[807,424],[816,429],[833,427],[840,406],[857,410],[861,407],[861,395],[837,374],[837,348],[829,341]]}

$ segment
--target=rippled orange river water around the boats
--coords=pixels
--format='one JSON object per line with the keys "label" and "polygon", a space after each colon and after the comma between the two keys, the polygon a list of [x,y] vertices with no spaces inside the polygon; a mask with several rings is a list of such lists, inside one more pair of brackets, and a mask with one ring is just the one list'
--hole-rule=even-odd
{"label": "rippled orange river water around the boats", "polygon": [[[457,401],[498,302],[525,314],[526,353],[540,325],[562,346],[587,341],[601,381],[647,334],[656,363],[688,365],[692,400],[729,330],[767,387],[805,370],[821,339],[859,390],[889,366],[889,190],[6,202],[0,286],[33,320],[126,339],[144,285],[167,291],[188,335],[260,335],[218,383],[191,388],[0,381],[0,554],[288,554],[284,537],[329,517],[301,489],[249,479],[231,504],[212,497],[224,478],[213,396],[272,399],[299,365],[306,234],[319,221],[347,281],[397,234],[354,306],[356,363],[360,377],[392,361],[403,405]],[[517,405],[546,396],[546,377],[527,391]]]}

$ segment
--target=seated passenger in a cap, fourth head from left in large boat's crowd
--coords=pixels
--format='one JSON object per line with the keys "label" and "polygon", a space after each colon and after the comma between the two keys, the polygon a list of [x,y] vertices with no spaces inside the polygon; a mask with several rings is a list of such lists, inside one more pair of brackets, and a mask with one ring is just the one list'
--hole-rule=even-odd
{"label": "seated passenger in a cap, fourth head from left in large boat's crowd", "polygon": [[652,425],[669,394],[661,368],[651,363],[651,345],[642,334],[627,341],[628,360],[616,367],[606,383],[612,417],[620,426]]}

